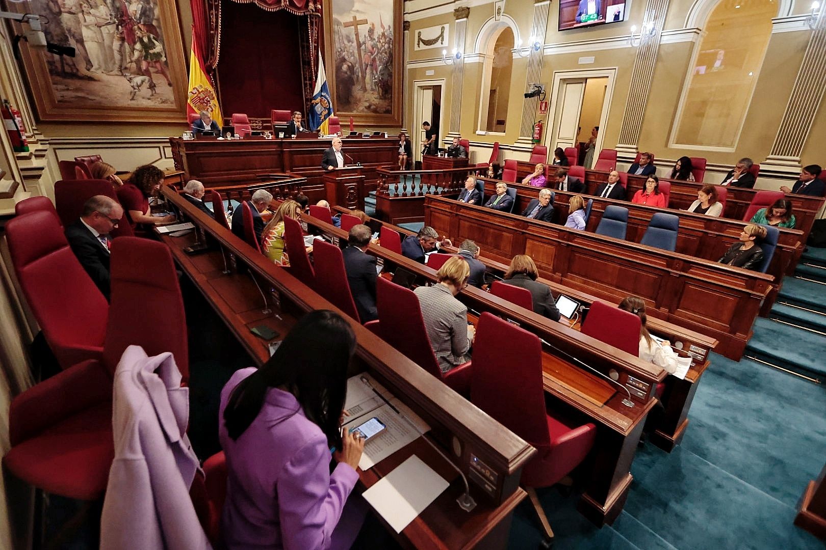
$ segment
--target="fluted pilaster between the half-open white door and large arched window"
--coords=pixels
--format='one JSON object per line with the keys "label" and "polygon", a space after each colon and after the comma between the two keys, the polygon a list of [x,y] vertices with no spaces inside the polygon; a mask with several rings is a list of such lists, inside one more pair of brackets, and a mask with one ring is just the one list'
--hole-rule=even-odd
{"label": "fluted pilaster between the half-open white door and large arched window", "polygon": [[[639,134],[643,129],[643,116],[654,76],[654,66],[657,64],[660,33],[667,9],[668,0],[648,0],[645,7],[643,29],[640,31],[639,38],[640,45],[637,49],[637,57],[634,59],[628,101],[625,103],[622,128],[619,130],[619,143],[617,143],[617,151],[628,153],[631,157],[637,153]],[[645,31],[652,28],[653,35],[646,38]],[[633,39],[634,36],[632,35],[631,38]]]}

